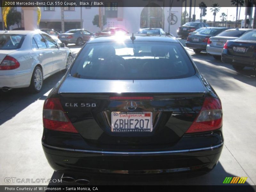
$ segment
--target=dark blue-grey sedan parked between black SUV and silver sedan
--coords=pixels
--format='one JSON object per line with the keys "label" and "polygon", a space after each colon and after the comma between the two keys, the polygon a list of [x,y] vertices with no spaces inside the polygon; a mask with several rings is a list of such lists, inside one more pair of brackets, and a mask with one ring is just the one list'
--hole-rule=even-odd
{"label": "dark blue-grey sedan parked between black SUV and silver sedan", "polygon": [[209,27],[199,31],[195,35],[189,35],[186,47],[193,49],[195,53],[200,53],[206,50],[207,42],[210,37],[216,36],[227,29],[228,28]]}

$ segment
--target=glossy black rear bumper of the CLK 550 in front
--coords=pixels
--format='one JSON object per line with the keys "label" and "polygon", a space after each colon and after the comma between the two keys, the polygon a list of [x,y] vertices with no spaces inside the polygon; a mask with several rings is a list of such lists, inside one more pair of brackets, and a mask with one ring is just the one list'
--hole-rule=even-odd
{"label": "glossy black rear bumper of the CLK 550 in front", "polygon": [[[55,147],[44,143],[44,141],[42,145],[49,164],[60,173],[156,174],[189,171],[209,172],[217,164],[223,148],[221,132],[219,136],[221,137],[218,140],[220,143],[216,145],[207,146],[210,143],[202,142],[207,147],[173,150],[87,150]],[[198,139],[195,138],[194,142],[202,145]],[[186,146],[189,147],[189,143]]]}

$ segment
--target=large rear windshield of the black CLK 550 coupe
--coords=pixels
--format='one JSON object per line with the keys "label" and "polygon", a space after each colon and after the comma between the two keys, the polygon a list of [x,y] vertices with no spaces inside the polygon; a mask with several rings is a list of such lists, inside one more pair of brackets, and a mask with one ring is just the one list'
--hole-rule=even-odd
{"label": "large rear windshield of the black CLK 550 coupe", "polygon": [[77,56],[70,74],[84,79],[173,79],[193,76],[195,69],[178,43],[89,43]]}

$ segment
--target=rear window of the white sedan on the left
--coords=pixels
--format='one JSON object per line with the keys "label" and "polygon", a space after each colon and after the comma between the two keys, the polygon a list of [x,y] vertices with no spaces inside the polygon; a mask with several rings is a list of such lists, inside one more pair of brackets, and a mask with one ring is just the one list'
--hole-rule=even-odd
{"label": "rear window of the white sedan on the left", "polygon": [[25,35],[0,35],[0,49],[19,49],[25,38]]}

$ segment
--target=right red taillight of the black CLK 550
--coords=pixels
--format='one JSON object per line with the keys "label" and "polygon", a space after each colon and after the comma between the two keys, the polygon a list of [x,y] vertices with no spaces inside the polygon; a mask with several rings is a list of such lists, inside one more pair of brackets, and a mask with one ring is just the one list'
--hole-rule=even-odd
{"label": "right red taillight of the black CLK 550", "polygon": [[221,102],[216,98],[206,97],[202,109],[186,133],[205,132],[222,126]]}

